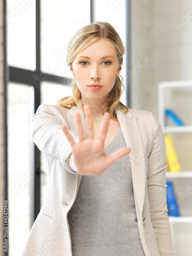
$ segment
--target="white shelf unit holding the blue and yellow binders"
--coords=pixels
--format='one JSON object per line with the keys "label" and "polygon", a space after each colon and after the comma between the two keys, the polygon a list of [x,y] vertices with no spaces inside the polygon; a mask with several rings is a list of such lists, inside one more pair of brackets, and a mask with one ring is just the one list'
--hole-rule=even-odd
{"label": "white shelf unit holding the blue and yellow binders", "polygon": [[[164,81],[158,85],[159,122],[163,133],[173,137],[181,172],[166,172],[173,181],[181,217],[169,217],[174,255],[192,255],[192,80]],[[165,117],[173,110],[184,122],[176,126]]]}

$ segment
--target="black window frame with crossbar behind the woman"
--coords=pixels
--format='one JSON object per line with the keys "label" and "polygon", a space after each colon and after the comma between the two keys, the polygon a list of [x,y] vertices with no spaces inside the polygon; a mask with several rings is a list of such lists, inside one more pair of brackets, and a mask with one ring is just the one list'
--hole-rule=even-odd
{"label": "black window frame with crossbar behind the woman", "polygon": [[[47,74],[40,71],[40,0],[36,0],[36,69],[35,71],[20,69],[8,66],[7,63],[7,1],[4,0],[4,135],[5,135],[5,200],[8,200],[8,118],[7,118],[7,88],[9,82],[14,82],[15,84],[24,84],[26,86],[32,86],[34,88],[34,113],[36,113],[38,106],[40,105],[40,87],[42,81],[54,82],[62,84],[63,86],[68,86],[70,83],[69,78]],[[94,0],[90,0],[90,23],[94,22]],[[131,0],[125,1],[126,8],[126,71],[131,69]],[[34,79],[35,77],[39,78]],[[126,79],[126,105],[131,108],[131,81]],[[35,221],[37,215],[40,211],[40,151],[37,146],[34,145],[34,195],[33,195],[33,220]],[[8,256],[8,252],[5,252]]]}

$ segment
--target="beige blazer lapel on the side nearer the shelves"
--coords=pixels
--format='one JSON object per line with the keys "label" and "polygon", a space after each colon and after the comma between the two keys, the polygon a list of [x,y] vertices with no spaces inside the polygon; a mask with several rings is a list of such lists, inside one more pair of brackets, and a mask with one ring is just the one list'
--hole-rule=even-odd
{"label": "beige blazer lapel on the side nearer the shelves", "polygon": [[137,119],[128,111],[123,114],[117,110],[117,118],[127,147],[131,148],[130,161],[132,169],[132,180],[137,214],[142,216],[145,197],[145,159],[142,145],[141,133]]}

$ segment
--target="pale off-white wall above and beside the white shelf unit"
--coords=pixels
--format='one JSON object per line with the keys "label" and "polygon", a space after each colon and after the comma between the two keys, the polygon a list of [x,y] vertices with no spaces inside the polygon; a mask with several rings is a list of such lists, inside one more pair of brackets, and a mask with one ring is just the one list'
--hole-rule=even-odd
{"label": "pale off-white wall above and beside the white shelf unit", "polygon": [[[132,108],[158,117],[158,83],[192,79],[191,29],[191,0],[132,1]],[[151,60],[134,73],[145,55]]]}

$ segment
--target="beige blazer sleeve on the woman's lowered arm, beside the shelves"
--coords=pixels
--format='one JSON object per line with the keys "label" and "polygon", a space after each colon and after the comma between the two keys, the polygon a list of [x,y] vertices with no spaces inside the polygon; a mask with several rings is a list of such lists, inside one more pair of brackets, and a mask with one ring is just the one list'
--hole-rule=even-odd
{"label": "beige blazer sleeve on the woman's lowered arm, beside the shelves", "polygon": [[147,194],[160,256],[174,255],[166,204],[166,151],[160,123],[150,112],[153,145],[148,156]]}

